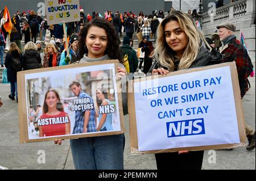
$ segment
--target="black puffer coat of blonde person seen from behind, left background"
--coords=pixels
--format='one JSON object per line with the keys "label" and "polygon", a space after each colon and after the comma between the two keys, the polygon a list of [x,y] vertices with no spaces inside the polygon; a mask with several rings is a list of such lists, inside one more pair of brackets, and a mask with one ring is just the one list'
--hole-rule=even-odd
{"label": "black puffer coat of blonde person seen from behind, left background", "polygon": [[40,68],[41,57],[38,50],[26,50],[23,54],[22,68],[23,70]]}

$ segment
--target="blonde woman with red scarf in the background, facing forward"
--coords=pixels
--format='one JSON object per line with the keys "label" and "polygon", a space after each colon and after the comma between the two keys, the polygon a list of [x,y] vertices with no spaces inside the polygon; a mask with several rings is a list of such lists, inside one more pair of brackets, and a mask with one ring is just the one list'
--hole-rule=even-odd
{"label": "blonde woman with red scarf in the background, facing forward", "polygon": [[46,45],[44,53],[43,68],[57,66],[57,62],[60,60],[60,53],[53,43],[48,43]]}

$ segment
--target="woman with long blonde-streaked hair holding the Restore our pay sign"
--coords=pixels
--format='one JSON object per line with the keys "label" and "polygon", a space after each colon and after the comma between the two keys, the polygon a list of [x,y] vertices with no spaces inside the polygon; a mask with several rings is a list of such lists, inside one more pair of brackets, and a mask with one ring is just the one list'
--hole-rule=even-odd
{"label": "woman with long blonde-streaked hair holding the Restore our pay sign", "polygon": [[[221,54],[212,54],[204,35],[193,23],[193,19],[182,11],[174,11],[164,19],[157,33],[152,66],[153,74],[167,74],[170,71],[196,68],[220,63]],[[211,49],[210,49],[211,50]],[[155,154],[158,169],[200,170],[204,151],[179,151]]]}

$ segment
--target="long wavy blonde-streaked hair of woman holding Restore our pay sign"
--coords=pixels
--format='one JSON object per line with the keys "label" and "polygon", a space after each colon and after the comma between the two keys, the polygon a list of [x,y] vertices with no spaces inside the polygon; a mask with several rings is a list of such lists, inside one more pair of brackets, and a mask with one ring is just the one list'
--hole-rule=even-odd
{"label": "long wavy blonde-streaked hair of woman holding Restore our pay sign", "polygon": [[[175,20],[179,23],[180,28],[184,31],[188,38],[188,44],[185,48],[183,56],[180,59],[178,70],[187,69],[193,61],[196,60],[197,54],[199,53],[200,47],[203,45],[201,41],[210,49],[207,41],[204,38],[203,33],[196,27],[193,19],[182,11],[175,11],[167,18],[163,19],[157,30],[156,48],[154,57],[162,66],[165,66],[170,71],[174,71],[174,56],[176,52],[172,50],[167,42],[164,33],[164,27],[168,22]],[[211,49],[210,49],[211,50]]]}

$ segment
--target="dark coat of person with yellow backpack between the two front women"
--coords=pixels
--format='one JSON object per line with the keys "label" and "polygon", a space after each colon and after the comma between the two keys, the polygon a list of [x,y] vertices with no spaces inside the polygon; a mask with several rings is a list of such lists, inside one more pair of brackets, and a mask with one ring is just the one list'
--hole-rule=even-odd
{"label": "dark coat of person with yellow backpack between the two front women", "polygon": [[121,50],[123,52],[123,56],[125,54],[128,55],[130,73],[134,73],[137,70],[139,64],[137,53],[130,45],[122,45]]}

